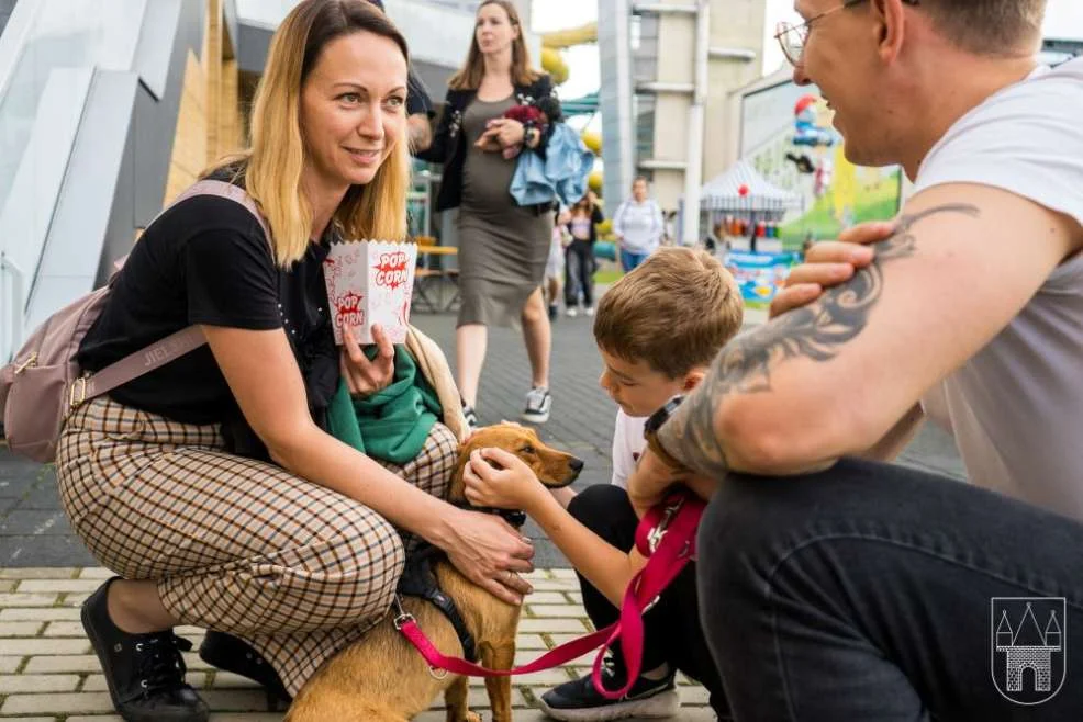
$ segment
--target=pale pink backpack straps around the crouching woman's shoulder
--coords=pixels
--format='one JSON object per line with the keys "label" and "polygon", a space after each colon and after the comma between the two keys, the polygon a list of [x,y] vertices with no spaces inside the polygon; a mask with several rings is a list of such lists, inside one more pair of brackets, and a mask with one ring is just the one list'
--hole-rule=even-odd
{"label": "pale pink backpack straps around the crouching woman's shoulder", "polygon": [[[270,228],[267,225],[267,221],[259,212],[259,206],[256,205],[256,201],[253,200],[253,198],[248,195],[243,188],[234,185],[233,183],[210,179],[201,180],[178,195],[177,199],[169,204],[168,208],[174,207],[181,201],[187,201],[188,199],[197,195],[216,195],[219,198],[230,199],[231,201],[243,205],[249,213],[252,213],[252,215],[256,218],[256,222],[259,223],[259,227],[263,229],[264,236],[267,238],[267,242],[270,242]],[[166,211],[164,210],[161,213],[165,212]],[[155,216],[155,221],[161,217],[161,213]],[[154,221],[150,223],[153,224]],[[120,267],[123,266],[123,261],[124,259],[118,261],[118,271],[120,271]],[[112,279],[110,279],[110,284],[112,284]],[[170,361],[179,359],[190,351],[194,351],[204,343],[206,343],[206,338],[204,338],[203,331],[200,330],[199,326],[189,326],[188,328],[181,329],[175,334],[170,334],[160,341],[155,341],[144,349],[139,349],[134,353],[127,354],[120,361],[114,361],[93,375],[80,376],[71,384],[71,388],[69,391],[69,408],[74,409],[88,398],[101,396],[118,386],[122,386],[134,379],[138,379],[145,373],[149,373],[155,369],[160,369]]]}

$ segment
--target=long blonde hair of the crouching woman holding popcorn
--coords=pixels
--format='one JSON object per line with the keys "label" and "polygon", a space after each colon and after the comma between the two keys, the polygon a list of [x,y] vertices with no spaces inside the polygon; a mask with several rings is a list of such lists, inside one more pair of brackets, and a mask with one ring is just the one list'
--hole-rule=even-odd
{"label": "long blonde hair of the crouching woman holding popcorn", "polygon": [[[304,257],[312,230],[312,205],[301,189],[301,90],[323,48],[356,32],[394,41],[409,63],[405,38],[368,0],[304,0],[271,38],[252,106],[249,147],[204,173],[232,168],[244,178],[270,225],[275,261],[283,268]],[[405,239],[410,148],[405,117],[402,122],[403,132],[372,181],[350,187],[335,211],[333,223],[344,238]]]}

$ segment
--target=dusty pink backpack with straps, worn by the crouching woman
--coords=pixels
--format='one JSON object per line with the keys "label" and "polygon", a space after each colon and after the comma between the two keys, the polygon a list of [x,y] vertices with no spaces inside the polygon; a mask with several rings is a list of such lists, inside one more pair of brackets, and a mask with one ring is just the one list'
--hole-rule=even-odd
{"label": "dusty pink backpack with straps, worn by the crouching woman", "polygon": [[[202,180],[181,193],[174,204],[194,195],[217,195],[239,203],[256,216],[264,235],[270,238],[255,201],[243,189],[224,181]],[[118,271],[123,261],[118,261]],[[13,452],[34,461],[52,462],[64,421],[80,404],[206,343],[199,327],[189,326],[96,374],[82,372],[76,361],[79,345],[105,307],[115,278],[116,272],[104,287],[49,316],[31,334],[11,363],[0,368],[0,413],[8,447]]]}

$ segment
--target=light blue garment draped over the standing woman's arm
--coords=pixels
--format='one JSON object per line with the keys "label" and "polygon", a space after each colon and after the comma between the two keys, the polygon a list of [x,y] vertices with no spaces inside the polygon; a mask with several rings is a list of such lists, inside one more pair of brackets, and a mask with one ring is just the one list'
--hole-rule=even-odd
{"label": "light blue garment draped over the standing woman's arm", "polygon": [[525,149],[518,154],[509,190],[518,205],[552,201],[573,205],[587,194],[587,179],[593,167],[594,154],[582,138],[567,123],[555,123],[545,158]]}

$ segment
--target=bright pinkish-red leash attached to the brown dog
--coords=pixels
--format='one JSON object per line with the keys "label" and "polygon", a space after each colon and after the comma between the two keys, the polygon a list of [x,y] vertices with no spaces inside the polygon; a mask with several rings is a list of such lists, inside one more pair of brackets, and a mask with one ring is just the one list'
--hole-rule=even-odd
{"label": "bright pinkish-red leash attached to the brown dog", "polygon": [[[429,667],[471,677],[507,677],[549,669],[582,656],[599,646],[594,658],[594,687],[609,699],[624,697],[639,677],[643,663],[643,613],[658,601],[659,595],[677,578],[695,556],[695,531],[703,516],[704,504],[690,493],[673,494],[651,509],[636,529],[636,548],[647,557],[647,564],[632,578],[621,605],[621,618],[605,629],[591,632],[549,650],[537,659],[513,669],[489,669],[461,657],[449,657],[437,650],[417,621],[401,607],[394,628],[416,647]],[[398,603],[398,598],[397,598]],[[622,641],[628,678],[618,690],[602,686],[602,658],[617,640]]]}

